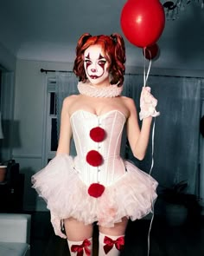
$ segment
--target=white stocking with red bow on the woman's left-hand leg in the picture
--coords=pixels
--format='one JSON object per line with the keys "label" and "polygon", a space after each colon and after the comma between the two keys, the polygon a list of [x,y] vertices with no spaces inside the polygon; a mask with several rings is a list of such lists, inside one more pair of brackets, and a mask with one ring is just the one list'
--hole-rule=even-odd
{"label": "white stocking with red bow on the woman's left-hand leg in the picture", "polygon": [[67,240],[71,256],[92,256],[92,238],[83,241]]}

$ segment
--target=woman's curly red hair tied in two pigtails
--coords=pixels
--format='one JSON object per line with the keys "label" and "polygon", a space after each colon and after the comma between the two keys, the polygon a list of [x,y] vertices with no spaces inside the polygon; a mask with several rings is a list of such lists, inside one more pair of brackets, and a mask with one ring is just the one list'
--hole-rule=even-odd
{"label": "woman's curly red hair tied in two pigtails", "polygon": [[111,84],[123,85],[124,82],[124,62],[125,47],[124,39],[119,34],[115,33],[111,36],[91,36],[88,33],[80,36],[76,47],[76,58],[73,64],[73,72],[79,77],[80,82],[86,82],[86,72],[84,69],[84,52],[91,46],[98,44],[104,51],[105,58],[109,62],[108,71],[111,75]]}

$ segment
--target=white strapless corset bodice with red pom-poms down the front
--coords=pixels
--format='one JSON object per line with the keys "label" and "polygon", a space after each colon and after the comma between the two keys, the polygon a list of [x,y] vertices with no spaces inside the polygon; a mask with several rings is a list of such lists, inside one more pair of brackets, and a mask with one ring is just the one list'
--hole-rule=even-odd
{"label": "white strapless corset bodice with red pom-poms down the front", "polygon": [[[74,169],[80,179],[89,186],[99,182],[109,186],[125,174],[124,161],[120,157],[121,138],[126,118],[118,110],[111,110],[104,115],[94,115],[88,111],[77,110],[71,116],[73,141],[77,156]],[[105,130],[105,139],[101,142],[92,141],[90,130],[100,127]],[[86,161],[86,154],[96,150],[102,155],[103,162],[93,167]]]}

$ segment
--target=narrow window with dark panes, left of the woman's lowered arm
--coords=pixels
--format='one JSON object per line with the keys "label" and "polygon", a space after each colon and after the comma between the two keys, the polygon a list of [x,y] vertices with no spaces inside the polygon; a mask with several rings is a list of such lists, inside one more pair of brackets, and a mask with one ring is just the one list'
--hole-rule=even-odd
{"label": "narrow window with dark panes, left of the woman's lowered arm", "polygon": [[[58,147],[60,124],[58,108],[61,111],[63,98],[67,95],[78,94],[76,84],[78,79],[73,72],[67,74],[47,74],[46,75],[46,92],[44,114],[44,134],[43,134],[43,160],[42,165],[45,166],[49,160],[53,159]],[[59,84],[59,92],[57,88]],[[69,85],[67,87],[67,84]],[[59,102],[56,101],[57,93],[59,93]],[[71,154],[75,154],[75,148],[71,142]]]}

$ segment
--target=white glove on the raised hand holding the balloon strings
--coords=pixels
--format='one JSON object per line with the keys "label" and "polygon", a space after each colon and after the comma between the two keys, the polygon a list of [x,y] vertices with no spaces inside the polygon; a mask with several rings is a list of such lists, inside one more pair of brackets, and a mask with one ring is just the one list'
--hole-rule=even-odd
{"label": "white glove on the raised hand holding the balloon strings", "polygon": [[142,89],[140,95],[140,120],[143,120],[143,118],[148,116],[156,117],[157,115],[160,115],[160,113],[156,111],[157,100],[153,95],[150,94],[150,91],[150,87],[143,87]]}

